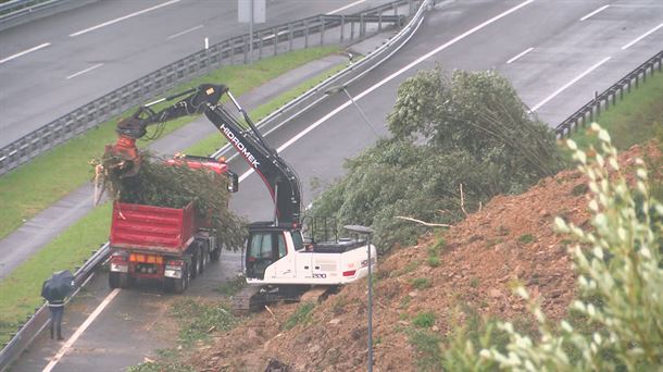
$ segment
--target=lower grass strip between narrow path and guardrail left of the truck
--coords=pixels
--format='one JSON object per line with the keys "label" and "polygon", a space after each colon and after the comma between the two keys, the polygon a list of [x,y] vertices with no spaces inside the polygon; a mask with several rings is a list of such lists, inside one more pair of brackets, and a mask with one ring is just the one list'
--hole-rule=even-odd
{"label": "lower grass strip between narrow path and guardrail left of the truck", "polygon": [[[254,66],[257,64],[258,63],[255,63]],[[335,67],[335,70],[338,67]],[[302,84],[302,86],[313,86],[318,82],[318,77],[315,77]],[[295,97],[293,95],[299,91],[298,89],[300,89],[300,87],[285,92],[283,96],[261,106],[261,108],[278,108],[283,106],[283,103],[278,104],[278,102],[285,101],[283,97]],[[254,111],[258,111],[261,108]],[[254,111],[250,113],[251,117],[255,115]],[[114,128],[111,126],[109,129],[114,137]],[[92,129],[91,132],[96,131],[97,129]],[[97,146],[102,145],[98,144]],[[70,160],[71,163],[79,166],[79,159],[80,158],[72,158]],[[72,165],[73,169],[75,168],[74,165]],[[34,165],[32,165],[32,163],[26,164],[26,166],[22,166],[18,171],[30,166]],[[86,172],[88,171],[89,170],[86,170]],[[14,173],[18,172],[12,172],[7,176],[11,176]],[[52,174],[51,176],[54,177]],[[91,177],[91,171],[89,171],[89,177]],[[0,178],[0,185],[2,185],[3,179],[4,177]],[[26,179],[27,178],[22,181],[25,182]],[[46,181],[47,177],[40,177],[40,179]],[[84,177],[83,179],[88,178]],[[25,184],[21,185],[23,187],[28,187]],[[74,187],[78,186],[79,185],[75,185]],[[3,200],[2,202],[4,203],[5,196],[2,194],[2,190],[3,188],[0,187],[0,200]],[[10,198],[10,196],[7,196],[7,198]],[[0,343],[8,340],[10,334],[16,332],[18,323],[24,320],[26,315],[33,313],[35,307],[41,306],[43,302],[40,297],[41,284],[53,271],[73,269],[90,256],[90,249],[98,247],[100,244],[108,240],[111,222],[109,218],[110,214],[111,203],[104,203],[96,208],[78,222],[68,226],[60,236],[46,245],[37,253],[33,255],[27,261],[18,265],[8,277],[0,281],[0,293],[2,294],[2,296],[0,296]]]}

